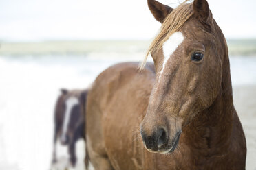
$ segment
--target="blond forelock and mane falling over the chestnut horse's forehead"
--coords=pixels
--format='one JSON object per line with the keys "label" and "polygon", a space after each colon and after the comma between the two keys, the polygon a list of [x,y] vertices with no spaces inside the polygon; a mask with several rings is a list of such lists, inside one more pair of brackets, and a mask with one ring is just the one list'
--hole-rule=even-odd
{"label": "blond forelock and mane falling over the chestnut horse's forehead", "polygon": [[149,49],[147,50],[146,56],[143,62],[140,64],[140,71],[145,68],[145,64],[147,62],[147,57],[149,53],[153,53],[162,48],[162,45],[171,34],[178,32],[186,23],[188,19],[193,15],[193,3],[181,3],[177,8],[171,11],[171,13],[164,19],[162,26],[160,28],[160,33],[154,38],[151,45],[149,45]]}

